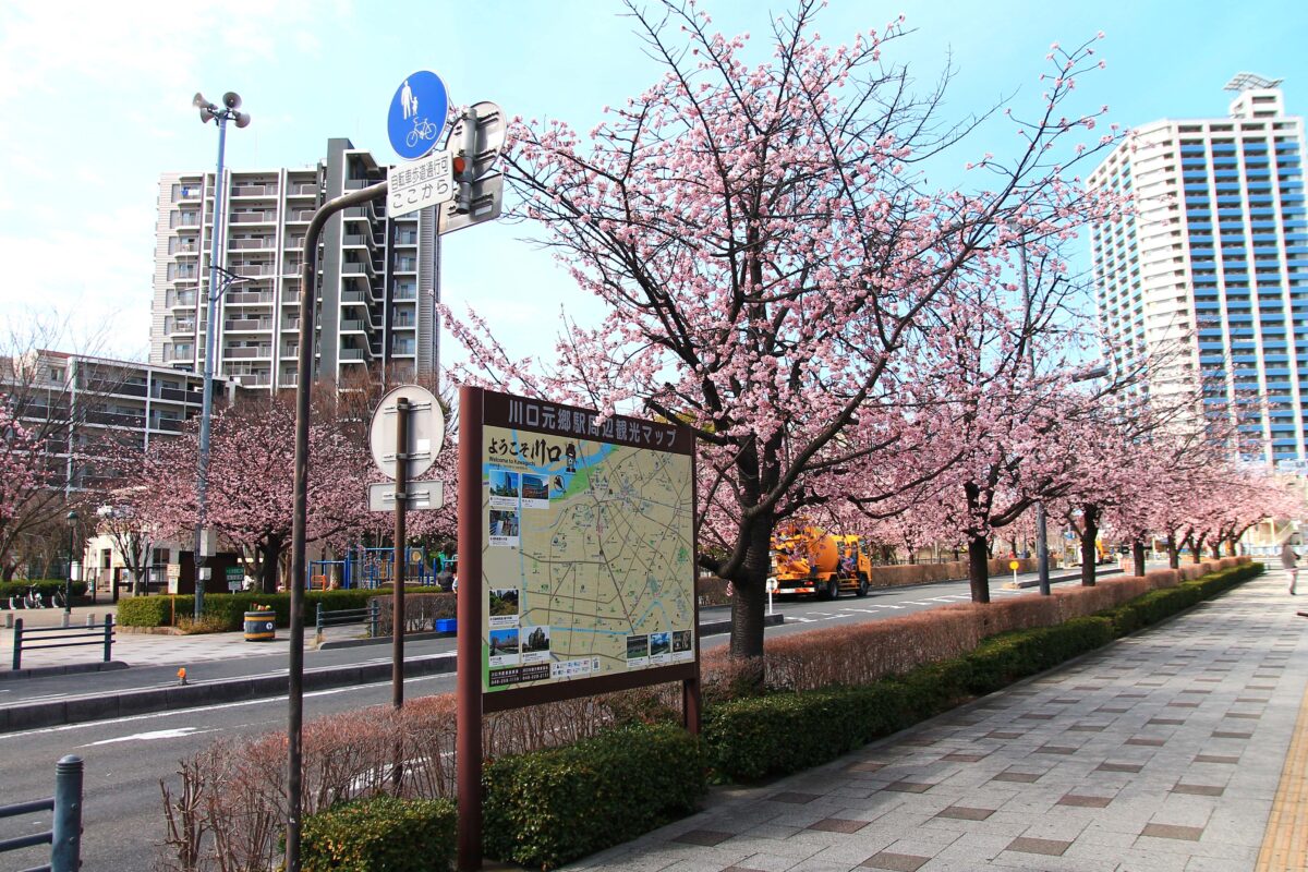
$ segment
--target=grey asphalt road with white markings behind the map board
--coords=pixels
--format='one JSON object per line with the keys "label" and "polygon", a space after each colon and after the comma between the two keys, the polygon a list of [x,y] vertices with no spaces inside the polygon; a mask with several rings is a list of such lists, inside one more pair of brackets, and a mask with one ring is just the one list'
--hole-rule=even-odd
{"label": "grey asphalt road with white markings behind the map board", "polygon": [[[1005,591],[998,583],[991,587],[995,599],[1035,592],[1035,588]],[[785,613],[786,624],[769,628],[768,634],[806,633],[968,599],[967,582],[875,591],[866,597],[849,595],[836,601],[778,599],[776,608]],[[725,645],[726,638],[726,634],[708,637],[702,647]],[[370,648],[352,651],[358,652],[358,659],[377,655]],[[405,682],[405,698],[453,690],[453,675],[425,676]],[[309,693],[305,694],[305,718],[388,705],[390,699],[390,682]],[[86,767],[82,868],[88,872],[146,871],[153,868],[154,846],[164,838],[160,779],[175,782],[178,760],[218,736],[283,729],[285,719],[286,698],[275,697],[0,735],[0,801],[48,796],[54,786],[55,761],[64,754],[78,754]],[[48,817],[41,816],[3,820],[0,838],[47,829],[48,825]],[[5,854],[4,868],[44,863],[46,851],[48,848],[29,848]]]}

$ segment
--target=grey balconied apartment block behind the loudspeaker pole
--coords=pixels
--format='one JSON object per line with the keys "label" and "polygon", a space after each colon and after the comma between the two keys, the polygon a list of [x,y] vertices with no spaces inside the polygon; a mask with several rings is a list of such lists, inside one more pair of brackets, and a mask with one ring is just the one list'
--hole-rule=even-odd
{"label": "grey balconied apartment block behind the loudspeaker pole", "polygon": [[[218,265],[243,281],[218,303],[215,374],[245,388],[296,386],[300,267],[314,209],[386,178],[349,140],[305,169],[225,170]],[[200,371],[213,234],[215,174],[160,179],[150,362]],[[360,367],[394,380],[437,367],[434,209],[388,218],[386,200],[332,217],[318,255],[318,378]],[[221,288],[220,280],[220,288]]]}

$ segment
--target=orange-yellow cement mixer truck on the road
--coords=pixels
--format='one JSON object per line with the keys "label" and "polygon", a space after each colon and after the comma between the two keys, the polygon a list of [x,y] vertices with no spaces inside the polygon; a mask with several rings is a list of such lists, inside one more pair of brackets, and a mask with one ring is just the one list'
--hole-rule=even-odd
{"label": "orange-yellow cement mixer truck on the road", "polygon": [[833,600],[842,591],[867,596],[872,561],[858,536],[795,524],[772,539],[772,579],[777,594],[816,594]]}

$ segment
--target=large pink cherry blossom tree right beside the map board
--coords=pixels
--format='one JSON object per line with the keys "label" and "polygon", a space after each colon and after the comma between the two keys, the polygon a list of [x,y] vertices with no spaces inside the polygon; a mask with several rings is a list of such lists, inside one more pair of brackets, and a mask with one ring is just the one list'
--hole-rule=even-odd
{"label": "large pink cherry blossom tree right beside the map board", "polygon": [[1078,148],[1100,112],[1062,107],[1097,59],[1056,46],[1033,120],[1014,119],[1022,154],[973,157],[976,191],[933,188],[921,162],[971,122],[943,124],[943,92],[914,95],[888,60],[903,20],[831,47],[818,7],[777,18],[770,60],[749,65],[748,35],[712,33],[692,4],[629,4],[659,80],[587,136],[515,123],[505,153],[515,214],[607,318],[569,324],[548,366],[515,360],[475,314],[446,318],[471,352],[464,380],[695,430],[701,565],[734,583],[735,658],[763,651],[777,523],[884,497],[838,492],[833,476],[912,450],[899,407],[923,312],[995,269],[1020,233],[1084,220],[1092,203],[1065,173],[1113,141]]}

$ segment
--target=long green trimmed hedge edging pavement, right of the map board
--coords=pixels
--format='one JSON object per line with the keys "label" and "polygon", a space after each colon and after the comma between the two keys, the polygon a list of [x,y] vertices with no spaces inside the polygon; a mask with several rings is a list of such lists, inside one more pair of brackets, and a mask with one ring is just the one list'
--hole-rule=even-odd
{"label": "long green trimmed hedge edging pavement, right of the map board", "polygon": [[714,705],[704,718],[705,756],[718,775],[732,780],[810,769],[1052,669],[1261,573],[1261,563],[1219,570],[1150,591],[1092,617],[993,635],[961,658],[870,685],[770,693]]}

